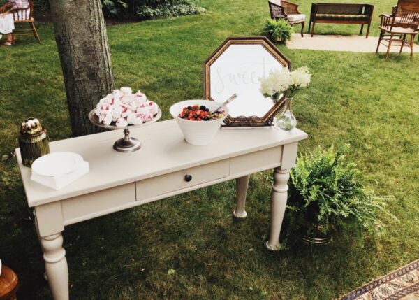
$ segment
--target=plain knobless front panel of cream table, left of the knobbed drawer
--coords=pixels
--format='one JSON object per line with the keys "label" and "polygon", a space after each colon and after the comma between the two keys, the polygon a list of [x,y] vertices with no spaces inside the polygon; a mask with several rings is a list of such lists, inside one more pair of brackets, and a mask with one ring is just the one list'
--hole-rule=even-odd
{"label": "plain knobless front panel of cream table, left of the knobbed drawer", "polygon": [[64,224],[73,224],[113,213],[128,203],[135,202],[135,183],[85,194],[61,201]]}

